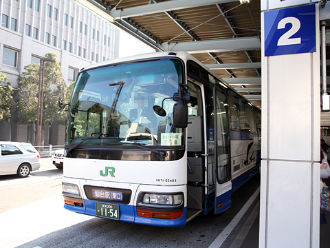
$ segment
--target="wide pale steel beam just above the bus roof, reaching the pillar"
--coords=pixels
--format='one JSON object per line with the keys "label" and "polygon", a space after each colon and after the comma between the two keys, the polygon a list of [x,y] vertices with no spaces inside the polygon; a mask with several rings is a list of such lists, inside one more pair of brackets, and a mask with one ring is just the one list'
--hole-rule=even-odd
{"label": "wide pale steel beam just above the bus roof, reaching the pillar", "polygon": [[170,44],[162,43],[162,48],[167,51],[186,51],[191,53],[229,52],[259,50],[259,48],[261,48],[261,42],[259,41],[258,37],[244,37]]}

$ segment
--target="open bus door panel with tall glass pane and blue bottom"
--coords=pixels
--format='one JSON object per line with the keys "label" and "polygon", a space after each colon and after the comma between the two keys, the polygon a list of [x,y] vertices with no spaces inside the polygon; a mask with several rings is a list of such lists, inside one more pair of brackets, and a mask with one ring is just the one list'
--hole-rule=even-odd
{"label": "open bus door panel with tall glass pane and blue bottom", "polygon": [[214,85],[214,214],[219,214],[231,205],[230,131],[227,95],[219,85]]}

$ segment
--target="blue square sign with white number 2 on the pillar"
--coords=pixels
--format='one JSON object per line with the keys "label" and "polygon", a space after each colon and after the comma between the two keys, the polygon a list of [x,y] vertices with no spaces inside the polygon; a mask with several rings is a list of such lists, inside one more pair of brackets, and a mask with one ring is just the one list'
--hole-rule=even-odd
{"label": "blue square sign with white number 2 on the pillar", "polygon": [[265,56],[316,52],[316,5],[265,12]]}

